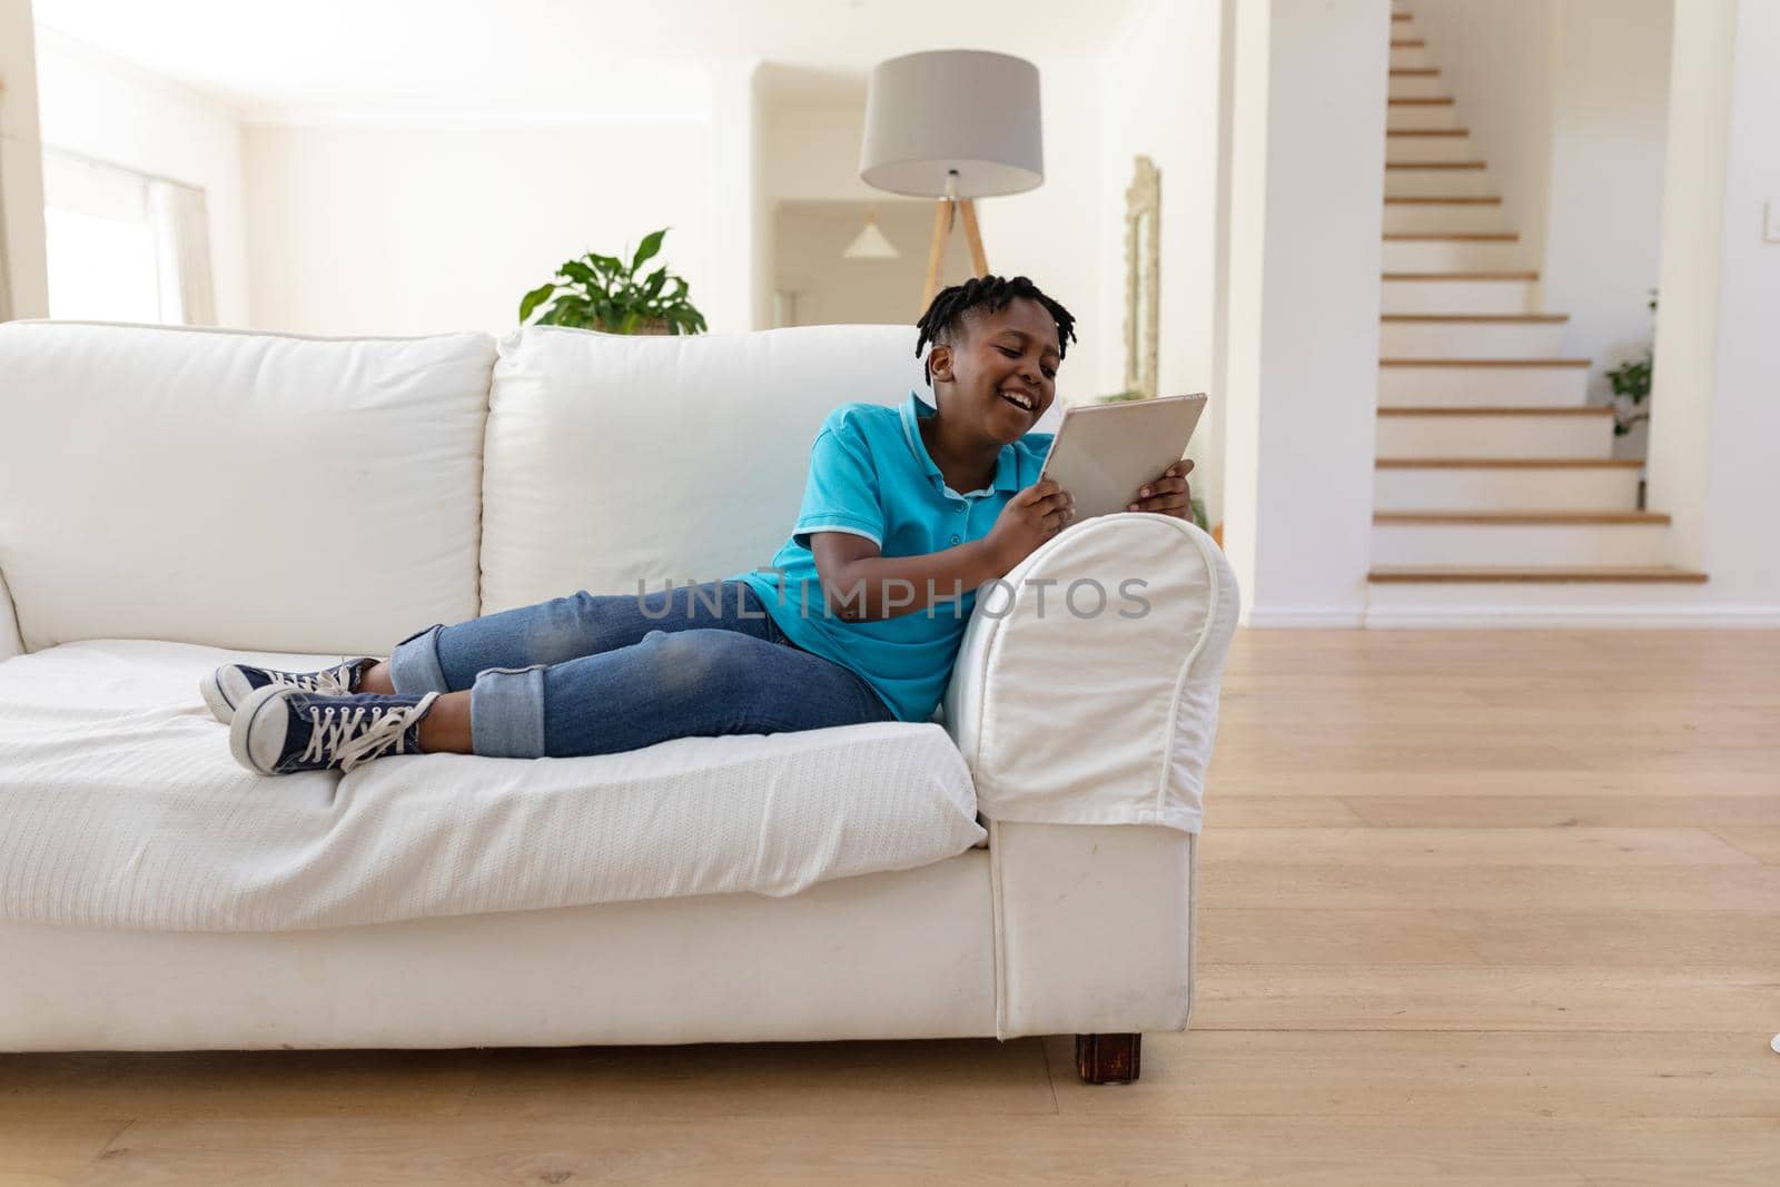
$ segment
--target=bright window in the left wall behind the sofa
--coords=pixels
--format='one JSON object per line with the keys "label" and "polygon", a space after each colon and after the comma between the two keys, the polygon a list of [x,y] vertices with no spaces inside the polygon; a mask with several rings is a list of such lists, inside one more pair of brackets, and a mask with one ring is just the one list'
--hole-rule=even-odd
{"label": "bright window in the left wall behind the sofa", "polygon": [[201,189],[46,148],[43,224],[50,317],[215,322]]}

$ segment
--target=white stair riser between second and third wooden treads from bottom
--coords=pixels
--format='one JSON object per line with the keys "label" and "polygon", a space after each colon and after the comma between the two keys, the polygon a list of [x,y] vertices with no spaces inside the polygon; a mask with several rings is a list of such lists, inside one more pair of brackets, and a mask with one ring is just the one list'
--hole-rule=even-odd
{"label": "white stair riser between second and third wooden treads from bottom", "polygon": [[1636,511],[1638,470],[1383,468],[1372,482],[1378,511]]}

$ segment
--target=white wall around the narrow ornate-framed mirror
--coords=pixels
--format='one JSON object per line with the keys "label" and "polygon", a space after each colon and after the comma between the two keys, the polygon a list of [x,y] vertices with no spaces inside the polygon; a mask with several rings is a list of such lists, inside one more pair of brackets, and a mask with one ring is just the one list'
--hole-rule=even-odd
{"label": "white wall around the narrow ornate-framed mirror", "polygon": [[1125,386],[1125,189],[1143,155],[1161,173],[1157,388],[1210,392],[1187,450],[1193,493],[1223,520],[1223,399],[1218,390],[1221,0],[1148,0],[1100,61],[1100,392]]}

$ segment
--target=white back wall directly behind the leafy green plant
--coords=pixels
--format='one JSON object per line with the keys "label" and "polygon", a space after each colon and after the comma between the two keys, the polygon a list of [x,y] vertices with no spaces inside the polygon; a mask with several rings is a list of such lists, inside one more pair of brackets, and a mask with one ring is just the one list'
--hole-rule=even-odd
{"label": "white back wall directly behind the leafy green plant", "polygon": [[710,329],[746,329],[701,304],[735,301],[712,269],[707,139],[698,121],[249,125],[255,324],[506,331],[564,260],[671,226],[653,265],[687,278]]}

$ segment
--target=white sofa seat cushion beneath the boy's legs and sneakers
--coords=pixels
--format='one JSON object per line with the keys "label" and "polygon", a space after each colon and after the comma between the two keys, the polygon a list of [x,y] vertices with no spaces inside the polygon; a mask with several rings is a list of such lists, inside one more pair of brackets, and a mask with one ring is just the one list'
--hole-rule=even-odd
{"label": "white sofa seat cushion beneath the boy's legs and sneakers", "polygon": [[336,655],[80,641],[0,662],[0,916],[285,931],[678,895],[790,895],[984,833],[936,724],[676,739],[625,755],[235,763],[198,678]]}

